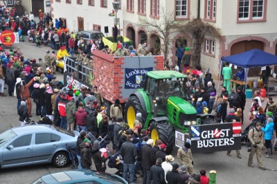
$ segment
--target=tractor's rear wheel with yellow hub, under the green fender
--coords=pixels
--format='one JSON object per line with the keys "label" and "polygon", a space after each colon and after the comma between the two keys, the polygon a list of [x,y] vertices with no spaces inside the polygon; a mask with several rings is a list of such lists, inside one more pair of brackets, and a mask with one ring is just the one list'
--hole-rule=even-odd
{"label": "tractor's rear wheel with yellow hub, under the green fender", "polygon": [[143,111],[143,107],[141,106],[141,102],[139,102],[139,98],[137,96],[131,96],[125,104],[125,122],[131,129],[134,128],[136,113],[141,113],[141,118],[143,119],[143,122],[145,122],[147,118],[147,112]]}

